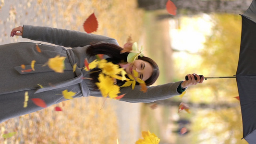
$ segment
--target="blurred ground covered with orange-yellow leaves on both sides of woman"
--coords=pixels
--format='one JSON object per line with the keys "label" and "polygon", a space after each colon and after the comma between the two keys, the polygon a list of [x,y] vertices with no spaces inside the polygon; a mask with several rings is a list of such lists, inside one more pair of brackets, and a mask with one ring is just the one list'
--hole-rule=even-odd
{"label": "blurred ground covered with orange-yellow leaves on both sides of woman", "polygon": [[[138,41],[143,11],[136,0],[0,0],[0,43],[28,41],[10,37],[23,24],[83,31],[85,19],[95,13],[94,34],[116,38],[122,46],[128,36]],[[127,14],[129,13],[129,14]],[[3,144],[116,144],[117,116],[103,98],[78,98],[62,102],[0,124]],[[9,134],[9,135],[8,135]],[[9,137],[9,138],[4,138]],[[139,137],[138,135],[137,137]],[[135,143],[135,141],[133,141]]]}

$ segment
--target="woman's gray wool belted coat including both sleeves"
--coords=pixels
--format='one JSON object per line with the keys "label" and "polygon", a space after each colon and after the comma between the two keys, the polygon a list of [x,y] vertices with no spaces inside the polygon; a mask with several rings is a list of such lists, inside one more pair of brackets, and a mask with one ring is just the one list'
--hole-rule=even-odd
{"label": "woman's gray wool belted coat including both sleeves", "polygon": [[[115,39],[78,31],[31,25],[24,25],[22,37],[48,42],[56,46],[38,44],[42,51],[39,53],[36,48],[37,43],[20,42],[0,45],[0,122],[42,109],[36,106],[31,98],[43,99],[48,107],[60,103],[66,100],[60,95],[66,89],[76,93],[73,98],[102,97],[99,91],[93,90],[90,80],[82,78],[89,77],[88,72],[79,68],[84,67],[84,60],[87,58],[85,51],[90,44],[118,45]],[[63,73],[53,72],[48,66],[43,66],[49,58],[54,58],[57,55],[66,57],[64,61],[66,69]],[[91,57],[88,58],[88,61],[91,62],[94,59],[96,58]],[[30,69],[32,60],[36,60],[35,71],[22,72],[21,65],[24,64],[26,69]],[[77,63],[75,72],[73,72],[74,63]],[[122,87],[121,94],[126,93],[126,95],[121,101],[149,103],[167,99],[180,95],[177,92],[180,83],[151,86],[148,87],[146,93],[140,91],[140,86],[135,86],[134,90],[131,87]],[[38,84],[43,85],[43,88],[40,88]],[[23,108],[26,91],[29,100],[27,108]]]}

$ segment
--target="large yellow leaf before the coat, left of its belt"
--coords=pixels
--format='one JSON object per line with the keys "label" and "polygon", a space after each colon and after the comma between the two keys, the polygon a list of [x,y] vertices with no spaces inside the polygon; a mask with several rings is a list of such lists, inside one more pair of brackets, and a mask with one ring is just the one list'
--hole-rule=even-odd
{"label": "large yellow leaf before the coat, left of its belt", "polygon": [[65,63],[64,60],[66,57],[60,57],[60,55],[57,55],[54,58],[50,58],[48,60],[48,66],[50,69],[52,69],[54,72],[64,72]]}

